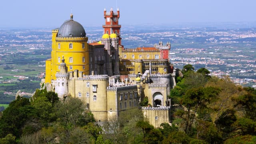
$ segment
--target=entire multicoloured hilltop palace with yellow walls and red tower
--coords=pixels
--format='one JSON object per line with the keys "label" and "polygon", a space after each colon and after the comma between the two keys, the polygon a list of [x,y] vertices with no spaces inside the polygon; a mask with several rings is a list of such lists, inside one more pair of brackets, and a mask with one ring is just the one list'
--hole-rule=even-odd
{"label": "entire multicoloured hilltop palace with yellow walls and red tower", "polygon": [[169,62],[170,42],[128,49],[121,44],[119,9],[104,10],[104,34],[88,43],[83,26],[65,21],[52,30],[51,58],[46,60],[44,87],[59,98],[83,100],[98,122],[118,112],[138,108],[144,98],[153,108],[142,108],[151,124],[169,122],[170,89],[176,85]]}

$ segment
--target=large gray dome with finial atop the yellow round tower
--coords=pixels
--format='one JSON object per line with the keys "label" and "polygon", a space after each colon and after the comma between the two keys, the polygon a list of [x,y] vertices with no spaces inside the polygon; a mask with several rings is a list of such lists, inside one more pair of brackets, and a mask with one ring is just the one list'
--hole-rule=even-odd
{"label": "large gray dome with finial atop the yellow round tower", "polygon": [[58,31],[57,37],[84,37],[85,30],[81,24],[73,20],[73,17],[64,22]]}

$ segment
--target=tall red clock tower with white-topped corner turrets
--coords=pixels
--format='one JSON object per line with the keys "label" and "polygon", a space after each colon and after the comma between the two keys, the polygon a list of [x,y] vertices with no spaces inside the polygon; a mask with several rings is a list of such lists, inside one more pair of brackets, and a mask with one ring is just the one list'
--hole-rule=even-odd
{"label": "tall red clock tower with white-topped corner turrets", "polygon": [[117,12],[113,12],[113,8],[110,9],[110,12],[106,12],[106,9],[104,9],[105,25],[102,28],[104,28],[104,34],[110,35],[115,33],[118,36],[118,44],[121,45],[119,17],[119,9],[117,9]]}

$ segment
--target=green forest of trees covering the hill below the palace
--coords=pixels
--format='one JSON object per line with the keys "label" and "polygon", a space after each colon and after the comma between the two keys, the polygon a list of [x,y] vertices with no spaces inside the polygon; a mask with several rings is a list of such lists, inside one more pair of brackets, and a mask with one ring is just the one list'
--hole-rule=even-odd
{"label": "green forest of trees covering the hill below the palace", "polygon": [[[0,144],[255,144],[256,90],[190,64],[176,71],[172,125],[154,128],[140,108],[99,126],[78,98],[36,90],[0,113]],[[146,105],[146,102],[141,102]]]}

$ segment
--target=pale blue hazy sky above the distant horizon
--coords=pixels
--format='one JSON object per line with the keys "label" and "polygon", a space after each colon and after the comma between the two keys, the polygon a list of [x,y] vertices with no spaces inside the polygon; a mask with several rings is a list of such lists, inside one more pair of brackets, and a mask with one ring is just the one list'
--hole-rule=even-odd
{"label": "pale blue hazy sky above the distant horizon", "polygon": [[103,10],[120,10],[120,24],[255,22],[256,0],[1,0],[0,27],[84,27],[104,24]]}

